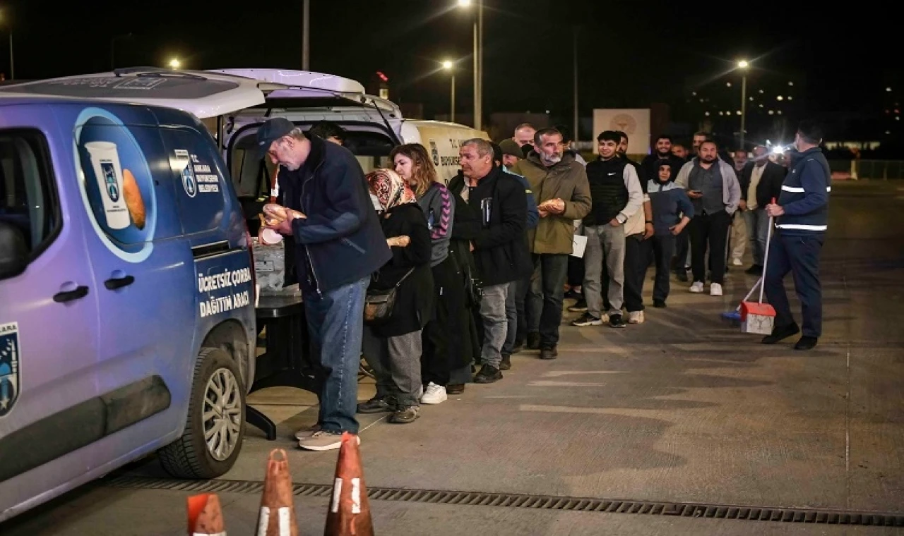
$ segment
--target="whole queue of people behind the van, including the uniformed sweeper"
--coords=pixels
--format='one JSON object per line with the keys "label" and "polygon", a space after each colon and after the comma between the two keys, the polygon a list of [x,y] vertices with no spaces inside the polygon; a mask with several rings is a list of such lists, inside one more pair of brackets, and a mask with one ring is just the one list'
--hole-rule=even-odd
{"label": "whole queue of people behind the van, including the uniformed sweeper", "polygon": [[[805,164],[797,163],[806,165],[795,178],[803,186],[790,186],[761,147],[739,180],[702,133],[686,162],[671,138],[660,136],[654,153],[637,164],[626,157],[627,134],[606,131],[598,135],[598,159],[583,162],[559,129],[525,124],[499,144],[461,143],[461,171],[444,185],[418,143],[394,148],[391,169],[365,176],[340,147],[341,135],[324,133],[334,143],[308,137],[280,118],[258,133],[261,152],[285,170],[277,203],[287,218],[271,228],[291,238],[287,274],[302,289],[319,356],[320,412],[314,427],[297,433],[301,448],[338,448],[342,432],[357,432],[357,412],[413,422],[421,404],[445,402],[468,383],[502,380],[511,356],[525,347],[540,350],[541,359],[557,358],[569,286],[578,300],[569,309],[583,313],[573,326],[643,323],[647,269],[654,266],[653,305],[664,308],[671,272],[686,265],[683,237],[690,236],[689,290],[702,292],[709,279],[711,295],[720,296],[739,210],[754,252],[748,273],[762,271],[769,216],[793,215],[782,234],[805,235],[797,239],[803,245],[779,242],[781,265],[769,273],[767,294],[780,311],[776,332],[763,342],[799,331],[779,297],[781,279],[793,271],[805,286],[798,285],[805,303],[798,347],[815,346],[821,304],[813,253],[818,257],[822,242],[806,234],[824,226],[829,189],[818,199],[798,195],[822,179],[824,158],[813,147],[802,144]],[[779,197],[787,204],[772,201]],[[582,259],[572,255],[576,235],[587,239]],[[575,266],[579,285],[570,275]],[[376,393],[358,403],[362,356]]]}

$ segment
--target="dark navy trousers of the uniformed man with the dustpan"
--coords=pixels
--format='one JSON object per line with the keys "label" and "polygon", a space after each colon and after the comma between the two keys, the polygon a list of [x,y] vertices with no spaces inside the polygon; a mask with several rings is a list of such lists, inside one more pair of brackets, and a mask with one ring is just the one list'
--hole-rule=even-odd
{"label": "dark navy trousers of the uniformed man with the dustpan", "polygon": [[785,292],[785,276],[794,277],[794,288],[804,316],[803,333],[819,337],[823,333],[823,289],[819,282],[819,254],[825,237],[822,233],[772,237],[766,267],[766,298],[776,310],[775,328],[794,323]]}

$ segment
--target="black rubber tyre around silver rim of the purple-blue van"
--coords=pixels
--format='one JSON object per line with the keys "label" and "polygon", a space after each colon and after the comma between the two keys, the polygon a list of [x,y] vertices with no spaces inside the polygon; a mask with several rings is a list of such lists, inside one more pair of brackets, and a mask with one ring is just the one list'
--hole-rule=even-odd
{"label": "black rubber tyre around silver rim of the purple-blue van", "polygon": [[[239,435],[228,457],[217,459],[204,440],[203,412],[208,385],[214,377],[232,378],[239,397]],[[234,400],[234,399],[233,399]],[[229,471],[239,457],[245,434],[245,387],[239,366],[220,348],[202,348],[194,365],[192,394],[182,437],[157,451],[165,471],[178,478],[215,478]]]}

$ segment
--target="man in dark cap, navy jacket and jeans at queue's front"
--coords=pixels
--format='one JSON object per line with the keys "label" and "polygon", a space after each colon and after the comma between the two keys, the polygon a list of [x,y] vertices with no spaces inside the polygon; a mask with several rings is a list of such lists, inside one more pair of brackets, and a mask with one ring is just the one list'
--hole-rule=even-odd
{"label": "man in dark cap, navy jacket and jeans at queue's front", "polygon": [[287,283],[297,277],[307,330],[321,385],[320,414],[310,430],[296,434],[307,450],[342,445],[344,431],[358,433],[358,402],[364,296],[371,274],[389,262],[390,248],[373,210],[361,165],[338,143],[304,132],[283,117],[258,130],[258,148],[278,164],[285,219],[270,228],[286,240]]}

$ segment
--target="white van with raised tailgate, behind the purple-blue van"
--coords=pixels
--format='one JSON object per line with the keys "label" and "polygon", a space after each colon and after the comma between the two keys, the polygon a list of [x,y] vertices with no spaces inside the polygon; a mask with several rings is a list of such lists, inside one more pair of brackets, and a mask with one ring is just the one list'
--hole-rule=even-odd
{"label": "white van with raised tailgate, behind the purple-blue van", "polygon": [[272,117],[285,117],[304,130],[320,121],[341,126],[345,147],[357,156],[365,173],[391,166],[389,154],[395,145],[420,143],[432,156],[438,179],[444,183],[458,172],[458,147],[463,141],[489,139],[485,132],[466,125],[405,119],[399,106],[367,95],[352,79],[288,69],[210,72],[256,79],[275,88],[263,104],[226,114],[223,147],[240,198],[259,197],[268,191],[272,164],[255,158],[254,148],[259,125]]}

